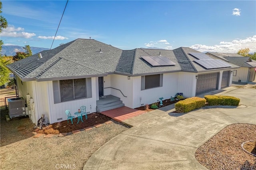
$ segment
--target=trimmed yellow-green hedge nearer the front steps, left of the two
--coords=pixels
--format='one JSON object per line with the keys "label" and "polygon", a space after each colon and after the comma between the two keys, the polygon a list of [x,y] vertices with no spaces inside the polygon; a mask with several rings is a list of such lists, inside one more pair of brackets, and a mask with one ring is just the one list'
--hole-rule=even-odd
{"label": "trimmed yellow-green hedge nearer the front steps, left of the two", "polygon": [[186,113],[205,106],[205,103],[206,99],[200,97],[191,97],[182,101],[178,101],[174,106],[176,111],[180,113]]}

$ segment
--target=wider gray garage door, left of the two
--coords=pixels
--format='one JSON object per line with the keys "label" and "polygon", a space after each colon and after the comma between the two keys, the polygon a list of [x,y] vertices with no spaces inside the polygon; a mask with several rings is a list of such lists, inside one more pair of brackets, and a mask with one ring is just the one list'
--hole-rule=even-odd
{"label": "wider gray garage door, left of the two", "polygon": [[217,89],[219,73],[198,75],[196,95]]}

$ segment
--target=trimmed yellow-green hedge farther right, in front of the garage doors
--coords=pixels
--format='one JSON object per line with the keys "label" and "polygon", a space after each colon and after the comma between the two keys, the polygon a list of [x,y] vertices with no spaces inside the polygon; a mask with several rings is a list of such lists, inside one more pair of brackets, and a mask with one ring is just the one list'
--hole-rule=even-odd
{"label": "trimmed yellow-green hedge farther right, in front of the garage doors", "polygon": [[232,96],[215,96],[205,95],[204,98],[209,106],[224,105],[224,106],[238,106],[240,99]]}

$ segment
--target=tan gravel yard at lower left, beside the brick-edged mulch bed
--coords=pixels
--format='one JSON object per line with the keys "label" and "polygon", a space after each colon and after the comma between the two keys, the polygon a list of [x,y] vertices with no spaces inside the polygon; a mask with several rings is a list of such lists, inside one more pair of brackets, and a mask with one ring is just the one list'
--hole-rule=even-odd
{"label": "tan gravel yard at lower left, beside the brick-edged mulch bed", "polygon": [[[20,119],[22,121],[23,119]],[[24,119],[25,120],[25,119]],[[25,137],[0,148],[1,170],[52,170],[63,168],[82,169],[88,158],[108,140],[129,127],[113,123],[64,137]],[[10,121],[9,123],[11,123]],[[1,131],[2,131],[1,126]],[[5,128],[8,129],[8,126]],[[17,127],[15,128],[17,131]],[[15,138],[18,132],[10,133]],[[5,138],[7,134],[1,136]],[[19,134],[22,136],[22,134]],[[2,142],[1,142],[2,143]]]}

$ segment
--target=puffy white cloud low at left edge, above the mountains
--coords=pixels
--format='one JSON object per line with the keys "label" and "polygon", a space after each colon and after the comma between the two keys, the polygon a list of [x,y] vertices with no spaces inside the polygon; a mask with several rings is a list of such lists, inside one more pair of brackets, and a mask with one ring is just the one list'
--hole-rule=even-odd
{"label": "puffy white cloud low at left edge, above the mountains", "polygon": [[18,27],[15,28],[12,25],[9,25],[7,28],[3,29],[1,36],[3,37],[20,37],[20,38],[31,38],[36,36],[35,33],[24,32],[24,28]]}

